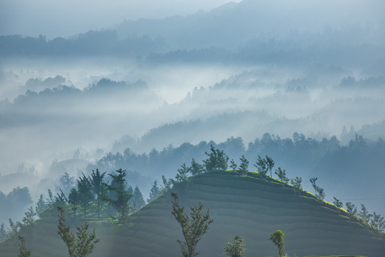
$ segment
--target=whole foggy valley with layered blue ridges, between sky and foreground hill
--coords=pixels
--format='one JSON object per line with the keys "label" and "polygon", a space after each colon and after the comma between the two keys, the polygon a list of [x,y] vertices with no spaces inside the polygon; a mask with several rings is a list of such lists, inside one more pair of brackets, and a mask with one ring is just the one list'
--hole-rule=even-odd
{"label": "whole foggy valley with layered blue ridges, between sky and foreground hill", "polygon": [[[1,35],[0,191],[27,186],[36,201],[58,192],[65,172],[124,168],[146,198],[155,179],[201,161],[211,142],[234,160],[269,154],[307,190],[317,176],[327,199],[385,213],[375,200],[385,193],[384,4],[297,2],[245,0],[66,38]],[[298,153],[319,152],[289,156],[285,138],[322,147],[298,143]],[[376,181],[352,191],[360,174]]]}

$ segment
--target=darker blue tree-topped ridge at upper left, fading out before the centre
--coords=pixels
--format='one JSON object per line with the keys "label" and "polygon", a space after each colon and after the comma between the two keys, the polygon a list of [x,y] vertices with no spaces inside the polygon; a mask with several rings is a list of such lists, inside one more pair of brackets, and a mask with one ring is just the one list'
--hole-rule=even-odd
{"label": "darker blue tree-topped ridge at upper left, fading out before the centre", "polygon": [[162,39],[149,36],[129,36],[119,40],[111,30],[89,31],[71,39],[47,40],[45,36],[0,36],[0,56],[130,56],[164,51]]}

